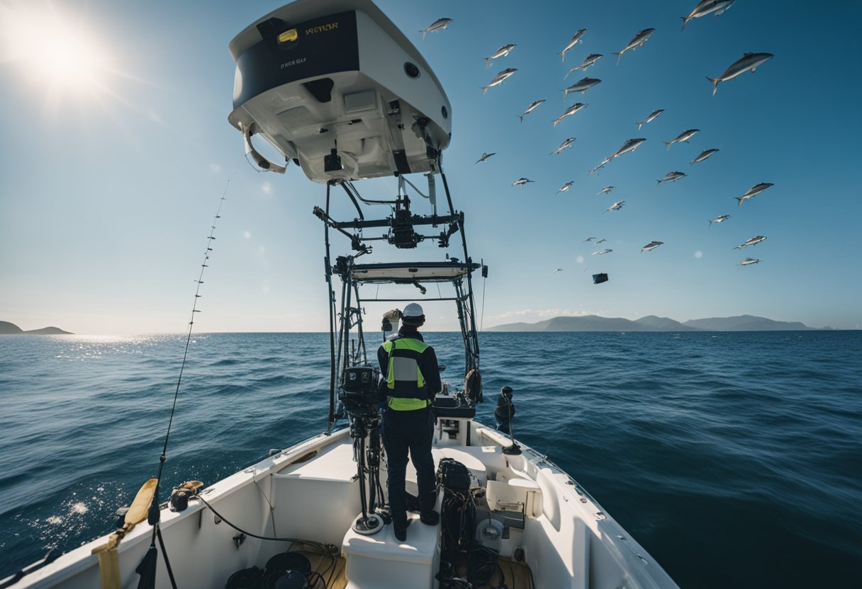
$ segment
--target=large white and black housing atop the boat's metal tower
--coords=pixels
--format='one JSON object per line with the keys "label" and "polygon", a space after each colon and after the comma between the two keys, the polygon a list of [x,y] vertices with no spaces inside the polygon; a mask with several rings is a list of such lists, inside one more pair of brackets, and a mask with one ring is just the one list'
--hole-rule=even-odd
{"label": "large white and black housing atop the boat's metal tower", "polygon": [[413,44],[370,0],[297,0],[228,45],[231,125],[263,135],[311,180],[439,171],[452,107]]}

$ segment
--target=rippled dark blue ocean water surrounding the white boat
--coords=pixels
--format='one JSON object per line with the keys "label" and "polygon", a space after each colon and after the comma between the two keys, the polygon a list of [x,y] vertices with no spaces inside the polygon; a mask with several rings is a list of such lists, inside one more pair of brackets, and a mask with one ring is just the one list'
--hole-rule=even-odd
{"label": "rippled dark blue ocean water surrounding the white boat", "polygon": [[[429,333],[463,378],[456,333]],[[163,489],[325,428],[328,334],[192,338]],[[0,337],[0,579],[112,529],[185,336]],[[486,401],[684,587],[860,586],[862,332],[484,333]],[[164,494],[164,491],[163,491]],[[163,498],[164,499],[164,498]]]}

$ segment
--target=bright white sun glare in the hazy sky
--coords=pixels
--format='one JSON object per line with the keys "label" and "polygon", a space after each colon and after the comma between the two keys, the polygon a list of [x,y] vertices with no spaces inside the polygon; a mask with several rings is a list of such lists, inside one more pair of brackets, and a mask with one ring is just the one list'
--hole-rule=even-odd
{"label": "bright white sun glare in the hazy sky", "polygon": [[51,4],[0,2],[0,62],[16,65],[48,99],[109,92],[112,59],[97,34]]}

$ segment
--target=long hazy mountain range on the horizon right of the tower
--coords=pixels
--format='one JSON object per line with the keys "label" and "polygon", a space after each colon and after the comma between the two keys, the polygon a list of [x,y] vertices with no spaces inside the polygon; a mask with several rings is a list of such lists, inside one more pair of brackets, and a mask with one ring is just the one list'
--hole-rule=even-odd
{"label": "long hazy mountain range on the horizon right of the tower", "polygon": [[690,319],[684,323],[647,315],[640,319],[621,317],[554,317],[538,323],[507,323],[489,327],[489,332],[788,332],[808,331],[809,327],[799,321],[773,321],[765,317],[738,315],[736,317],[712,317]]}

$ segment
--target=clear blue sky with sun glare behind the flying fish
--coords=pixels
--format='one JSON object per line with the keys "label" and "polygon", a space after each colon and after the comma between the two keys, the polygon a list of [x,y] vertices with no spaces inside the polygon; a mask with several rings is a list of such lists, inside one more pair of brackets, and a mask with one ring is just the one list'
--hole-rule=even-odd
{"label": "clear blue sky with sun glare behind the flying fish", "polygon": [[[184,331],[227,186],[198,329],[326,329],[322,226],[311,214],[324,189],[295,167],[254,171],[227,122],[228,41],[279,5],[0,0],[0,319],[91,334]],[[862,5],[737,0],[681,32],[679,16],[695,5],[378,2],[452,102],[444,165],[472,256],[490,266],[485,326],[576,313],[751,313],[862,327]],[[442,16],[454,22],[422,40],[417,31]],[[589,30],[561,62],[578,28]],[[615,65],[612,53],[643,28],[656,32]],[[40,53],[51,37],[72,48]],[[482,58],[508,43],[515,50],[485,68]],[[775,58],[712,96],[705,76],[745,52]],[[604,57],[564,82],[588,53]],[[483,96],[479,87],[506,67],[518,71]],[[602,83],[564,101],[561,89],[584,75]],[[539,99],[547,102],[519,123]],[[572,102],[590,106],[553,127]],[[654,109],[665,112],[639,133],[635,121]],[[662,141],[688,128],[701,132],[665,150]],[[577,138],[571,148],[549,155],[568,137]],[[587,174],[632,137],[647,142]],[[688,165],[708,148],[721,151]],[[474,164],[483,152],[497,155]],[[669,171],[689,176],[657,187]],[[511,186],[518,177],[534,183]],[[738,207],[734,196],[761,182],[775,185]],[[609,185],[614,192],[596,195]],[[358,186],[391,196],[396,184]],[[616,200],[622,210],[604,214]],[[731,218],[708,226],[720,214]],[[755,235],[768,239],[734,250]],[[582,243],[590,236],[613,252],[593,256],[601,248]],[[665,244],[640,253],[653,239]],[[347,243],[334,240],[339,248]],[[439,254],[434,245],[420,253]],[[737,267],[746,256],[762,262]],[[610,281],[593,285],[599,271]],[[450,311],[431,306],[428,327],[453,329]]]}

